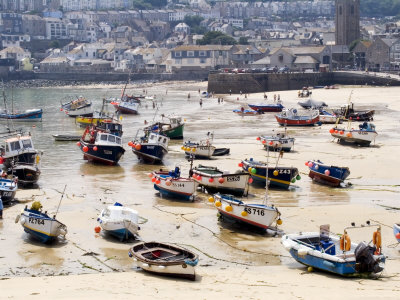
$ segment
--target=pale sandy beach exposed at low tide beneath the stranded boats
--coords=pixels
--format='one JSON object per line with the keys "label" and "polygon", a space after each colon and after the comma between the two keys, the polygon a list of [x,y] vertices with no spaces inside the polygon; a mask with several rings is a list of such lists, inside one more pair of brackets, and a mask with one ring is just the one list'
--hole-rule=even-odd
{"label": "pale sandy beach exposed at low tide beneath the stranded boats", "polygon": [[[200,107],[198,89],[204,91],[206,87],[207,83],[170,83],[146,84],[137,89],[165,94],[168,88],[168,94],[176,91],[181,97],[191,94],[190,100],[183,100],[192,103],[190,113],[184,116],[187,119],[185,140],[202,138],[201,131],[214,131],[214,144],[229,147],[231,153],[212,161],[196,160],[196,164],[234,171],[241,159],[265,160],[267,152],[256,137],[270,132],[270,128],[282,130],[274,114],[240,117],[232,113],[232,109],[246,103],[262,102],[263,94],[214,95],[214,98],[203,98]],[[159,197],[147,177],[148,172],[158,167],[138,165],[129,153],[121,168],[102,168],[102,173],[96,176],[90,164],[82,160],[78,175],[65,180],[69,186],[57,216],[67,224],[68,234],[66,241],[56,245],[43,246],[29,239],[14,220],[34,200],[45,202],[49,212],[54,212],[64,183],[53,186],[41,183],[38,189],[18,190],[19,203],[6,208],[0,221],[0,299],[127,299],[132,296],[145,299],[398,299],[400,246],[396,247],[392,226],[400,221],[400,185],[394,167],[400,149],[399,92],[400,88],[394,87],[341,86],[336,90],[314,90],[313,99],[325,101],[329,107],[346,104],[351,94],[357,109],[375,109],[373,123],[379,134],[376,142],[371,147],[337,144],[329,134],[332,125],[289,128],[289,134],[296,137],[295,151],[285,153],[279,164],[297,167],[302,179],[289,191],[269,191],[269,202],[279,207],[283,220],[280,228],[286,233],[318,231],[322,224],[330,224],[335,233],[342,233],[351,222],[360,225],[370,220],[380,224],[383,252],[388,258],[378,279],[308,272],[291,258],[280,237],[237,230],[220,223],[216,209],[207,201],[208,195],[201,192],[193,203]],[[274,94],[280,94],[286,107],[299,108],[296,103],[301,99],[297,98],[297,91],[269,92],[270,101]],[[224,97],[224,103],[218,104],[217,97]],[[188,163],[180,147],[181,141],[170,143],[165,167],[172,168],[177,161],[182,161],[186,174]],[[271,162],[276,161],[276,156],[270,154]],[[304,165],[310,159],[348,166],[352,186],[334,189],[313,183]],[[110,178],[118,182],[102,184]],[[90,184],[91,189],[95,186],[99,192],[90,194],[85,184]],[[249,200],[261,203],[264,192],[262,188],[252,187]],[[120,243],[94,232],[100,210],[117,199],[125,200],[143,217],[142,240],[177,243],[199,254],[194,282],[137,270],[127,254],[133,242]],[[369,242],[372,231],[354,230],[351,238]]]}

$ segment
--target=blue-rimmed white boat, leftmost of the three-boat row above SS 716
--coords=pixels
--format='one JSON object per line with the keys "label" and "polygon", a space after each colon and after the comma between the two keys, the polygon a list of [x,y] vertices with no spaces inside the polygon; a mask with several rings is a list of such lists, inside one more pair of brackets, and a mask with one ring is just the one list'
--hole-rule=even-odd
{"label": "blue-rimmed white boat, leftmost of the three-boat row above SS 716", "polygon": [[157,171],[151,174],[154,188],[161,195],[183,200],[194,200],[198,183],[190,177],[181,177],[179,167],[173,171]]}

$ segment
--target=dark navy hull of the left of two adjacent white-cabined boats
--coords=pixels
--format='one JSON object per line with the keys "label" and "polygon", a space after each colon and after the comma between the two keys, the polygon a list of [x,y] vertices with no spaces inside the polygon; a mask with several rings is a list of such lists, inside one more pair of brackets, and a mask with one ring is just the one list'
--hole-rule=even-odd
{"label": "dark navy hull of the left of two adjacent white-cabined boats", "polygon": [[[97,151],[94,147],[97,147]],[[95,145],[80,141],[80,149],[83,153],[83,158],[87,161],[101,163],[105,165],[116,165],[125,153],[125,149],[120,145]],[[88,151],[83,151],[87,147]]]}

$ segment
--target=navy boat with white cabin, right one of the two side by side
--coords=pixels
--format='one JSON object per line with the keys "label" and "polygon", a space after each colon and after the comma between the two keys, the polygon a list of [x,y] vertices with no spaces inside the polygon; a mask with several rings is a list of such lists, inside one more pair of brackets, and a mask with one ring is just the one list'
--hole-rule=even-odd
{"label": "navy boat with white cabin, right one of the two side by side", "polygon": [[145,163],[161,163],[168,153],[169,138],[156,132],[144,133],[139,138],[140,132],[141,130],[138,130],[135,139],[128,143],[132,147],[132,152]]}

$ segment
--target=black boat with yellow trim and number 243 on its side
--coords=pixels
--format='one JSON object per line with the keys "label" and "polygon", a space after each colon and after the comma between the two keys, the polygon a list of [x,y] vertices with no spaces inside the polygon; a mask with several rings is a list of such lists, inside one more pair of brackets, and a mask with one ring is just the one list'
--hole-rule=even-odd
{"label": "black boat with yellow trim and number 243 on its side", "polygon": [[256,184],[265,185],[268,177],[270,188],[287,190],[291,183],[301,179],[297,168],[278,167],[277,163],[273,166],[269,165],[268,162],[256,161],[253,158],[242,160],[239,167],[248,172],[251,181]]}

